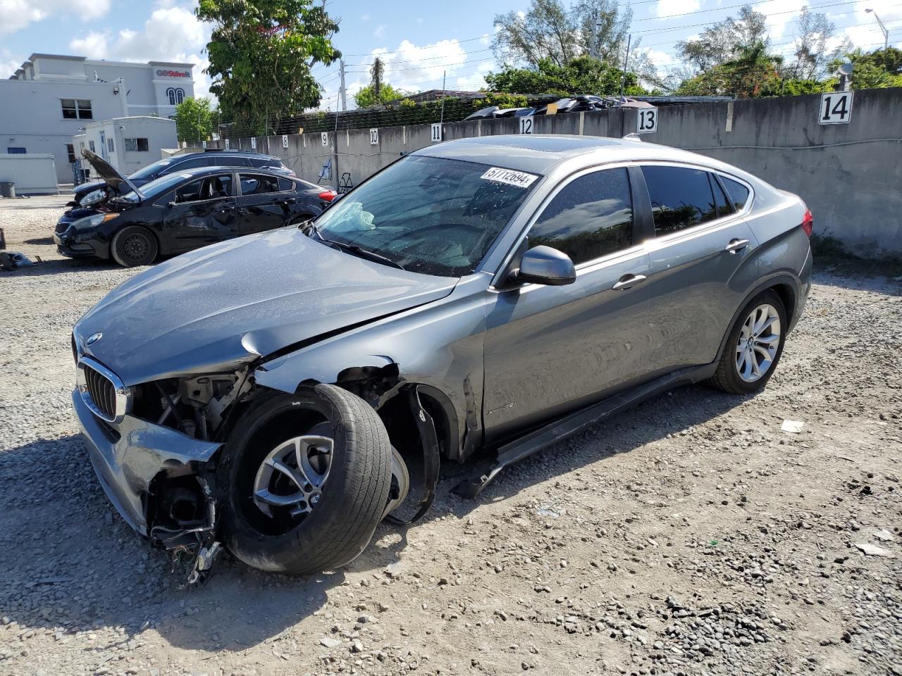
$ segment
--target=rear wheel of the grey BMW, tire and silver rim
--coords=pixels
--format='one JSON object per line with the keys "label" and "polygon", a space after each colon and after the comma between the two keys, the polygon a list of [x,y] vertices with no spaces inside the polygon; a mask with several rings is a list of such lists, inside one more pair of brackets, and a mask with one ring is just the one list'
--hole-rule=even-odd
{"label": "rear wheel of the grey BMW, tire and silver rim", "polygon": [[[761,308],[765,307],[769,308],[767,317],[764,317],[761,312]],[[760,342],[755,340],[754,326],[758,324],[751,318],[752,313],[756,313],[756,317],[761,318],[760,325],[771,322],[772,315],[776,315],[776,321],[771,322],[769,328],[760,332]],[[751,324],[749,324],[750,320]],[[749,330],[750,326],[751,331]],[[774,370],[777,369],[780,356],[783,354],[786,328],[786,307],[775,291],[764,291],[752,298],[742,308],[735,324],[730,329],[721,361],[717,364],[717,370],[710,379],[710,384],[724,392],[740,395],[752,394],[764,389],[774,374]],[[749,343],[750,340],[752,343]],[[743,343],[754,344],[756,347],[742,352]],[[771,351],[773,343],[776,343],[776,347]],[[764,357],[765,352],[769,354],[769,362]],[[750,358],[754,359],[754,363],[750,361]]]}

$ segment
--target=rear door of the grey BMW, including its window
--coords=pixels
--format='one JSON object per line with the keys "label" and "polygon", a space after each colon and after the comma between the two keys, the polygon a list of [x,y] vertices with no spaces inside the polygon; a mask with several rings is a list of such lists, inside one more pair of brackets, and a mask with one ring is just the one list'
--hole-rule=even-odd
{"label": "rear door of the grey BMW, including its window", "polygon": [[649,323],[649,366],[658,371],[706,364],[758,279],[758,242],[723,190],[703,167],[641,167],[654,236],[648,242],[656,311]]}

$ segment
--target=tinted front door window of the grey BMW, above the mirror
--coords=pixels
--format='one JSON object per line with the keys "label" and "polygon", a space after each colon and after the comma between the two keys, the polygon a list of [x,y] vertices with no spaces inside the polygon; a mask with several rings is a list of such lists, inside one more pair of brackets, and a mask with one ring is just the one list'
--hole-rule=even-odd
{"label": "tinted front door window of the grey BMW, above the mirror", "polygon": [[606,169],[564,187],[529,231],[529,246],[564,251],[576,264],[632,245],[632,199],[626,169]]}

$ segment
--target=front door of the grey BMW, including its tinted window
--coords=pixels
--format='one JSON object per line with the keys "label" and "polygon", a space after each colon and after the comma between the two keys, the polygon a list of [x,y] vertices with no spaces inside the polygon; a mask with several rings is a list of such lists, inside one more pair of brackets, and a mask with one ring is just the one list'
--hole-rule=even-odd
{"label": "front door of the grey BMW, including its tinted window", "polygon": [[[585,406],[643,378],[653,305],[627,169],[594,169],[557,191],[526,248],[564,251],[576,281],[500,290],[487,311],[487,440]],[[522,249],[521,249],[522,251]]]}

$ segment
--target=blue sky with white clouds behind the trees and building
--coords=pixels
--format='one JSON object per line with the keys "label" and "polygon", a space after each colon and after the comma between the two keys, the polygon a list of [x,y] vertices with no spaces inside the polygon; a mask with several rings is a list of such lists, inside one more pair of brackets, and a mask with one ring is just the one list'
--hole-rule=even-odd
{"label": "blue sky with white clouds behind the trees and building", "polygon": [[[564,0],[569,4],[571,0]],[[867,50],[883,44],[883,34],[867,14],[872,8],[902,43],[902,0],[752,0],[768,17],[774,51],[793,51],[795,22],[804,5],[827,14],[838,31]],[[0,78],[8,78],[34,52],[124,61],[173,60],[197,64],[196,96],[207,95],[206,45],[210,26],[194,16],[196,0],[0,0]],[[691,39],[706,25],[735,14],[740,0],[633,0],[630,32],[662,75],[679,64],[677,41]],[[484,87],[484,75],[499,69],[491,49],[495,14],[523,12],[529,0],[328,0],[340,18],[334,44],[345,55],[348,107],[354,92],[370,79],[373,57],[386,64],[385,80],[410,91]],[[337,64],[314,67],[324,89],[322,107],[338,101]]]}

